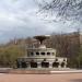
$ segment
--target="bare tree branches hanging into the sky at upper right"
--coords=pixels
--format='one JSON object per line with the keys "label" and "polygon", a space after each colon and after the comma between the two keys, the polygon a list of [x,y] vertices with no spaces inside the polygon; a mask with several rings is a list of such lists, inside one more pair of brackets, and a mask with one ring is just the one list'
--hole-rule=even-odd
{"label": "bare tree branches hanging into the sky at upper right", "polygon": [[82,22],[82,0],[36,0],[39,13],[52,21]]}

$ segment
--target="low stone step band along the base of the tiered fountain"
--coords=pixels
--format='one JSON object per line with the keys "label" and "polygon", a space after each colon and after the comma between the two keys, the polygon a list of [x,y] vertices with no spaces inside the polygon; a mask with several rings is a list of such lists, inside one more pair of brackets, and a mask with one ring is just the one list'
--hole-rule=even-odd
{"label": "low stone step band along the base of the tiered fountain", "polygon": [[75,69],[54,69],[54,70],[35,70],[35,69],[0,69],[0,73],[12,74],[65,74],[65,73],[82,73],[82,70]]}

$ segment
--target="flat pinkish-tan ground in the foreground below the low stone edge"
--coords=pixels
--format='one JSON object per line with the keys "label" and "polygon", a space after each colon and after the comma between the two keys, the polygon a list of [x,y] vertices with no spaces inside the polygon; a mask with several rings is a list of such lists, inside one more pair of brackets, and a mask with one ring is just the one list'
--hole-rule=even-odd
{"label": "flat pinkish-tan ground in the foreground below the low stone edge", "polygon": [[82,73],[67,73],[67,74],[0,73],[0,82],[82,82]]}

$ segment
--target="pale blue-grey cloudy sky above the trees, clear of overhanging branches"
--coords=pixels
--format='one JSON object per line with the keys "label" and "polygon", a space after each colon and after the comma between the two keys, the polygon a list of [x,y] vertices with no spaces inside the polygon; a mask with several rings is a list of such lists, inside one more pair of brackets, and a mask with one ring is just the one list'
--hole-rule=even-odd
{"label": "pale blue-grey cloudy sky above the trees, clear of overhanging branches", "polygon": [[38,9],[35,0],[0,0],[0,43],[35,35],[73,32],[75,27],[82,26],[79,22],[63,24],[45,21],[43,15],[37,15]]}

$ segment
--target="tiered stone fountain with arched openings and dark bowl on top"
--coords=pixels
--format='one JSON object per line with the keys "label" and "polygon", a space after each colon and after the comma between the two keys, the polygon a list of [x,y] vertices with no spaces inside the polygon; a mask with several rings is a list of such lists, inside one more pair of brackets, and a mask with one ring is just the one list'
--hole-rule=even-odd
{"label": "tiered stone fountain with arched openings and dark bowl on top", "polygon": [[57,57],[56,49],[47,48],[43,42],[49,36],[35,36],[35,39],[39,42],[39,47],[28,47],[26,49],[26,56],[17,58],[16,65],[17,68],[36,68],[36,69],[54,69],[54,68],[66,68],[67,58]]}

